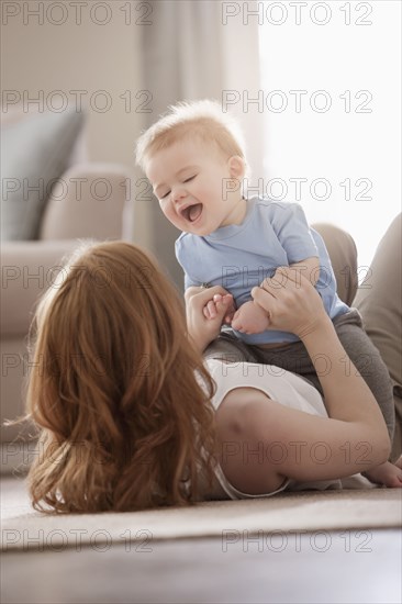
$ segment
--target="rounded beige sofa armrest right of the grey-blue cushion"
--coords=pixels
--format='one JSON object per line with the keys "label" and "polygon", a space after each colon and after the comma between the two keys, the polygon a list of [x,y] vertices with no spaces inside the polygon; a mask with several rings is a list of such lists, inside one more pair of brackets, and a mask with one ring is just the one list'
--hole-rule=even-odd
{"label": "rounded beige sofa armrest right of the grey-blue cushion", "polygon": [[131,211],[130,168],[79,164],[55,183],[42,220],[40,239],[122,238]]}

